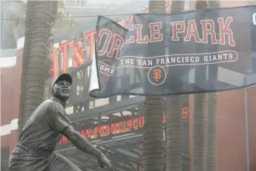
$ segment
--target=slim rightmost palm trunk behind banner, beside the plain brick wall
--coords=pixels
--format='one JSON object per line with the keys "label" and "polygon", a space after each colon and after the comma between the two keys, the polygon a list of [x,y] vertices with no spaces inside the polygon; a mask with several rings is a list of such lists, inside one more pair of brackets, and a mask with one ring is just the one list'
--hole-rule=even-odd
{"label": "slim rightmost palm trunk behind banner, beside the plain brick wall", "polygon": [[[220,8],[220,1],[208,1],[209,8]],[[217,68],[210,68],[211,75],[215,76],[213,81],[216,81]],[[206,147],[206,170],[216,171],[216,93],[207,94],[207,147]]]}

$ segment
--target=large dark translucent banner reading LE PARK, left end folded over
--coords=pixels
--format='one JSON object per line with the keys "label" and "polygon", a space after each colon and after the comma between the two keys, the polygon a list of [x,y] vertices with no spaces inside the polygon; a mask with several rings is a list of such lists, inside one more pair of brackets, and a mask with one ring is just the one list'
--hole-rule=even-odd
{"label": "large dark translucent banner reading LE PARK, left end folded over", "polygon": [[90,95],[179,95],[256,84],[256,6],[99,16]]}

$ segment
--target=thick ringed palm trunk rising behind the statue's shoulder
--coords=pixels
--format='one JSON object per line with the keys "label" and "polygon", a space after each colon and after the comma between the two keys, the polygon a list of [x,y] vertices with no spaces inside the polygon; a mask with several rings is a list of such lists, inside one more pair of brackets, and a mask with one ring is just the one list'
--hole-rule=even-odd
{"label": "thick ringed palm trunk rising behind the statue's shoulder", "polygon": [[49,30],[52,18],[52,2],[36,1],[33,14],[30,60],[27,65],[27,86],[24,122],[33,110],[43,102],[51,64],[49,61]]}

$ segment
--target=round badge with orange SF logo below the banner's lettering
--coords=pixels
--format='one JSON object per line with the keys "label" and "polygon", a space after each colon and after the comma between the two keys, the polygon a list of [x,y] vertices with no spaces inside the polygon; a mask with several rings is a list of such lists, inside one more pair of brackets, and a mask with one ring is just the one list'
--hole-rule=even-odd
{"label": "round badge with orange SF logo below the banner's lettering", "polygon": [[166,76],[166,70],[160,66],[152,67],[147,73],[147,79],[155,86],[163,84],[166,81]]}

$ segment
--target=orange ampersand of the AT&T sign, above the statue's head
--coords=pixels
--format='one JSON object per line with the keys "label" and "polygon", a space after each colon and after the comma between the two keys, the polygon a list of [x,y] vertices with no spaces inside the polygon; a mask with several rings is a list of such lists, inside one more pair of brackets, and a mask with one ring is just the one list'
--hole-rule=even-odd
{"label": "orange ampersand of the AT&T sign, above the statue's head", "polygon": [[79,42],[79,41],[74,42],[74,45],[73,45],[74,55],[72,59],[73,67],[77,67],[84,63],[84,60],[83,60],[84,48],[81,44],[82,42]]}

